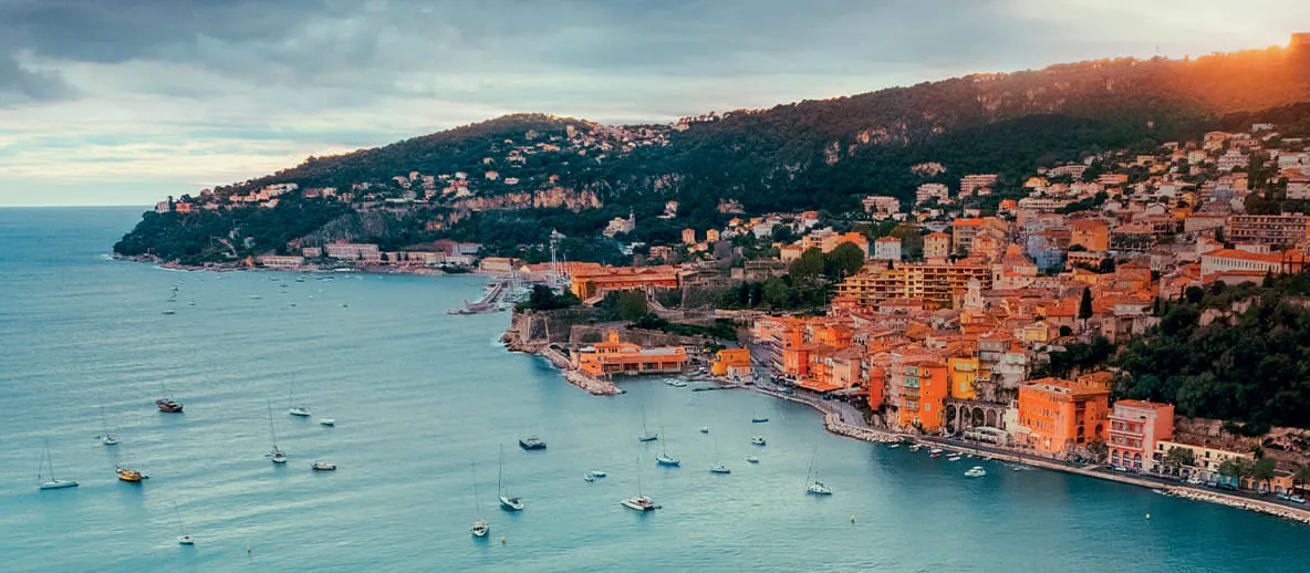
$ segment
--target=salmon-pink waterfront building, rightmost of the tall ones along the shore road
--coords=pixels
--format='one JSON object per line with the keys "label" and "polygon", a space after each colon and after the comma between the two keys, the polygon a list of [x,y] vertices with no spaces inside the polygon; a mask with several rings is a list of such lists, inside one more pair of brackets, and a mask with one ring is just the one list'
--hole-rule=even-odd
{"label": "salmon-pink waterfront building, rightmost of the tall ones along the shore road", "polygon": [[1163,455],[1155,443],[1174,440],[1174,404],[1119,400],[1110,412],[1110,464],[1136,471],[1159,471]]}

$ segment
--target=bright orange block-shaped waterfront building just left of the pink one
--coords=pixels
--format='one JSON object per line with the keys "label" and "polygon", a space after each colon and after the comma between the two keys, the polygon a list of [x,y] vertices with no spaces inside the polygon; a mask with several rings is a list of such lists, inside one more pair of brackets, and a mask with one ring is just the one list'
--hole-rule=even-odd
{"label": "bright orange block-shaped waterfront building just left of the pink one", "polygon": [[1106,440],[1110,391],[1083,383],[1041,378],[1019,386],[1019,425],[1039,454],[1053,455]]}

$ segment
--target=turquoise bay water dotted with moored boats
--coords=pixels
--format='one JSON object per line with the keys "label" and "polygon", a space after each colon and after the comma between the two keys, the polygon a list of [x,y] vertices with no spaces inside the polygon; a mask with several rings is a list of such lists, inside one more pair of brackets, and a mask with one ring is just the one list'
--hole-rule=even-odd
{"label": "turquoise bay water dotted with moored boats", "polygon": [[[109,260],[139,211],[0,209],[3,570],[1294,572],[1310,559],[1303,526],[992,462],[968,480],[969,459],[837,438],[812,411],[748,392],[638,381],[590,396],[504,352],[504,314],[445,315],[479,277],[296,283]],[[161,382],[185,415],[155,411]],[[337,428],[288,416],[292,391]],[[286,467],[263,458],[267,400]],[[145,484],[115,480],[100,404]],[[681,468],[637,442],[643,408]],[[549,449],[520,450],[527,433]],[[80,488],[37,491],[43,440]],[[494,504],[502,445],[519,514]],[[803,493],[815,447],[829,498]],[[717,458],[734,472],[709,474]],[[314,475],[313,459],[341,470]],[[469,535],[474,462],[489,540]],[[609,477],[584,483],[590,470]],[[638,471],[664,509],[618,505]],[[174,542],[173,502],[194,548]]]}

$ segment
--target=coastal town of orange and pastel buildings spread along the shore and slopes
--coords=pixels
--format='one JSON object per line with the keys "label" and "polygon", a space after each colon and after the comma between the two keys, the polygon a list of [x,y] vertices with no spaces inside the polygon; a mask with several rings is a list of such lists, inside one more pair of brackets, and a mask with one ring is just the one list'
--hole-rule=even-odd
{"label": "coastal town of orange and pastel buildings spread along the shore and slopes", "polygon": [[[275,209],[293,198],[356,215],[427,213],[423,232],[438,234],[485,211],[578,213],[601,207],[599,196],[529,166],[667,147],[671,133],[720,119],[569,124],[496,141],[477,170],[204,190],[155,212]],[[912,170],[933,181],[912,196],[770,213],[719,199],[722,225],[635,239],[645,225],[679,224],[685,205],[667,200],[655,217],[629,209],[580,238],[625,264],[579,260],[558,232],[520,246],[537,254],[529,260],[455,238],[401,245],[318,232],[257,245],[232,229],[217,239],[221,262],[204,267],[489,275],[483,297],[451,314],[514,309],[504,343],[593,394],[622,392],[616,381],[626,375],[685,374],[808,403],[846,436],[973,447],[1305,519],[1310,432],[1186,416],[1176,392],[1141,390],[1155,374],[1111,360],[1176,330],[1171,309],[1208,327],[1237,324],[1275,292],[1310,305],[1286,286],[1310,249],[1310,141],[1289,127],[1089,150],[1018,181],[951,174],[926,158]]]}

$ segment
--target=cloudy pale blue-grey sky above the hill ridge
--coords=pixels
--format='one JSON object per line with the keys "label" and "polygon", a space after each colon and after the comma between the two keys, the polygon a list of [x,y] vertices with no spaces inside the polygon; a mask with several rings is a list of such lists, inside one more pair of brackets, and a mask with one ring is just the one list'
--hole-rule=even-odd
{"label": "cloudy pale blue-grey sky above the hill ridge", "polygon": [[510,113],[668,122],[1292,31],[1310,3],[0,0],[0,207],[147,205]]}

